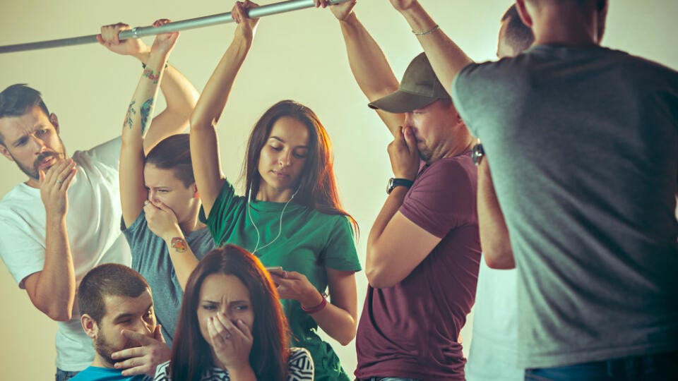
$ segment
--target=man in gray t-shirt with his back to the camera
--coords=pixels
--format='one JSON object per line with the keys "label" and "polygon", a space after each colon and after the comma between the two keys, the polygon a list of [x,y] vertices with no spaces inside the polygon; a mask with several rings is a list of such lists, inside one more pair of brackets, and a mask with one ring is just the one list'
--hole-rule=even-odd
{"label": "man in gray t-shirt with his back to the camera", "polygon": [[463,68],[444,34],[420,42],[492,167],[518,361],[528,379],[678,379],[678,73],[599,46],[606,0],[516,3],[535,44],[514,59]]}

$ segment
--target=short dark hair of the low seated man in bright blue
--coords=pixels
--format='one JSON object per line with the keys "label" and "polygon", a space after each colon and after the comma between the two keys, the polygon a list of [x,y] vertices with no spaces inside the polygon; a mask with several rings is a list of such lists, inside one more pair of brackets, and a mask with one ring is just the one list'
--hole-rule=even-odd
{"label": "short dark hair of the low seated man in bright blue", "polygon": [[78,308],[81,315],[90,315],[99,324],[106,315],[106,296],[136,298],[149,290],[141,274],[117,263],[99,265],[83,277],[78,287]]}

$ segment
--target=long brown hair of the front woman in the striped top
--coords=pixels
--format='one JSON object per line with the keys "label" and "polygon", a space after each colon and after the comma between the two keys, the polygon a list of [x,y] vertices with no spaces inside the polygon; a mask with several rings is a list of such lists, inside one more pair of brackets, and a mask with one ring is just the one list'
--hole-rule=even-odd
{"label": "long brown hair of the front woman in the striped top", "polygon": [[200,380],[205,370],[216,366],[210,344],[203,338],[198,322],[200,290],[211,274],[234,275],[249,290],[254,310],[254,341],[249,351],[249,363],[256,379],[285,380],[288,326],[278,291],[261,261],[247,250],[234,245],[210,251],[201,259],[186,283],[172,344],[172,362],[169,364],[172,380]]}

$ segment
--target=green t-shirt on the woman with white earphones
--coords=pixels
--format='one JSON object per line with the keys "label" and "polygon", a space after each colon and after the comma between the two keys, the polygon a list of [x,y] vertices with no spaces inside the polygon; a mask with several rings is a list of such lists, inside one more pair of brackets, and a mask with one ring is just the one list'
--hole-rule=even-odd
{"label": "green t-shirt on the woman with white earphones", "polygon": [[[218,245],[232,243],[250,251],[256,246],[254,221],[261,235],[256,255],[263,265],[282,266],[286,271],[304,274],[320,292],[327,289],[326,267],[361,270],[348,218],[323,214],[293,202],[285,209],[282,233],[266,246],[278,236],[283,207],[284,202],[252,201],[248,212],[246,198],[235,195],[233,186],[226,182],[208,218],[202,210],[200,218]],[[292,346],[311,352],[315,380],[349,380],[332,347],[316,333],[316,321],[304,313],[298,301],[281,302],[292,330]]]}

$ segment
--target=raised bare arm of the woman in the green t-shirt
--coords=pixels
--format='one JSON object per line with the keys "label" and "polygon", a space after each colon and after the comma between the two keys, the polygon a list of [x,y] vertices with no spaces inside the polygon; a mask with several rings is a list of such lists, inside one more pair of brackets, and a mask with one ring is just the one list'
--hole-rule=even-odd
{"label": "raised bare arm of the woman in the green t-shirt", "polygon": [[238,24],[228,49],[219,61],[191,115],[191,157],[196,184],[206,216],[225,182],[221,172],[217,123],[242,63],[249,52],[258,19],[245,16],[245,9],[257,6],[251,1],[236,2],[232,10]]}

